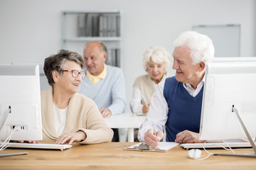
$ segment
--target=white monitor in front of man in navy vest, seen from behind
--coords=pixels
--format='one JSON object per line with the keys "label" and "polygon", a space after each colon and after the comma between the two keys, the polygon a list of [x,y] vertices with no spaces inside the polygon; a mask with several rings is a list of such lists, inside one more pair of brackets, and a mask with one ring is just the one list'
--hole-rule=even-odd
{"label": "white monitor in front of man in navy vest, seen from behind", "polygon": [[255,137],[256,62],[212,62],[207,64],[205,78],[200,140],[246,137],[233,106]]}

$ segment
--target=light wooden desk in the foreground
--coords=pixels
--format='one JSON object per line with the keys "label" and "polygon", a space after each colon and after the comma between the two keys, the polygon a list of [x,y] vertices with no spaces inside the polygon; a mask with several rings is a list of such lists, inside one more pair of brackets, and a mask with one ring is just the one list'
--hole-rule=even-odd
{"label": "light wooden desk in the foreground", "polygon": [[[28,152],[27,155],[0,157],[0,169],[256,169],[255,158],[210,156],[188,158],[180,146],[169,152],[125,151],[132,142],[78,145],[63,152],[39,149],[5,149],[1,153]],[[228,152],[210,149],[210,152]],[[251,152],[252,150],[240,151]],[[202,157],[207,153],[202,151]]]}

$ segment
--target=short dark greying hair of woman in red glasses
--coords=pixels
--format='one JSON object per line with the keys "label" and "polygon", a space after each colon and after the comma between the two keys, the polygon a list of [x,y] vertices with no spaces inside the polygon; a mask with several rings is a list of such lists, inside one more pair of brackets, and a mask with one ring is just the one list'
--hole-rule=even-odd
{"label": "short dark greying hair of woman in red glasses", "polygon": [[[77,52],[71,52],[69,50],[60,50],[57,55],[50,55],[50,57],[47,57],[45,59],[43,71],[46,74],[48,84],[50,84],[50,86],[53,86],[53,84],[55,83],[52,75],[53,70],[56,70],[58,72],[60,70],[63,70],[63,64],[67,60],[80,64],[81,68],[84,67],[83,57]],[[63,74],[63,72],[59,73]]]}

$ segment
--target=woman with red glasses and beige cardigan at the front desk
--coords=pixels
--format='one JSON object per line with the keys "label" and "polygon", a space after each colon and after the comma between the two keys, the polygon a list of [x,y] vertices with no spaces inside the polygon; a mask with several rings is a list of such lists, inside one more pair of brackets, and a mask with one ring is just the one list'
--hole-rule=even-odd
{"label": "woman with red glasses and beige cardigan at the front desk", "polygon": [[50,88],[41,92],[43,142],[111,142],[113,132],[95,102],[77,93],[85,78],[83,65],[83,58],[68,50],[46,58],[43,70]]}

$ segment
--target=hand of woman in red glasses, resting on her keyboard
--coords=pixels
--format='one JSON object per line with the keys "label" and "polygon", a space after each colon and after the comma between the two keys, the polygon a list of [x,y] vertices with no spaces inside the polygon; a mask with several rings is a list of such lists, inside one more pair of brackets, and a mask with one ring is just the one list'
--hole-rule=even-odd
{"label": "hand of woman in red glasses, resting on her keyboard", "polygon": [[78,131],[75,133],[64,133],[63,135],[60,135],[58,137],[58,140],[56,141],[57,144],[65,144],[68,143],[71,145],[73,142],[80,142],[82,140],[85,140],[86,134],[85,132]]}

